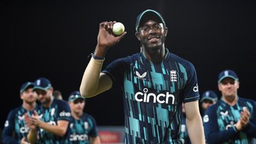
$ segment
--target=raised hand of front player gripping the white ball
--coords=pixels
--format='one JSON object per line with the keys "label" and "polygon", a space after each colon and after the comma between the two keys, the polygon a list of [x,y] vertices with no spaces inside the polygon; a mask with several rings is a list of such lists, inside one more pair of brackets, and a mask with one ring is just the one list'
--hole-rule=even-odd
{"label": "raised hand of front player gripping the white ball", "polygon": [[126,31],[124,31],[122,35],[115,36],[112,31],[114,23],[116,23],[116,21],[105,21],[100,23],[97,44],[98,48],[108,50],[109,47],[117,44],[126,35]]}

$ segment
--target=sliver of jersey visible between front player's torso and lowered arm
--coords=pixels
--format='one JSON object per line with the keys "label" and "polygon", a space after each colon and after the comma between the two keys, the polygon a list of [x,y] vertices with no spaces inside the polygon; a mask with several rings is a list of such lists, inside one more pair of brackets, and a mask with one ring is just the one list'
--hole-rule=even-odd
{"label": "sliver of jersey visible between front player's torso and lowered arm", "polygon": [[181,127],[180,127],[180,137],[182,144],[190,144],[190,139],[188,136],[188,129],[186,125],[186,115],[182,114],[182,119],[181,119]]}

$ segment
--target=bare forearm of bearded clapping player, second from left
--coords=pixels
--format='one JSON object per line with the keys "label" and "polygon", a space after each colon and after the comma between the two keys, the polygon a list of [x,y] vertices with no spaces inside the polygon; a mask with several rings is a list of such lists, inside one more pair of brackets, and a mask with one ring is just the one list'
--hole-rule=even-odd
{"label": "bare forearm of bearded clapping player, second from left", "polygon": [[58,135],[60,137],[63,137],[67,132],[67,129],[65,127],[61,127],[58,125],[51,125],[42,121],[39,123],[38,126],[41,129],[44,129],[45,131]]}

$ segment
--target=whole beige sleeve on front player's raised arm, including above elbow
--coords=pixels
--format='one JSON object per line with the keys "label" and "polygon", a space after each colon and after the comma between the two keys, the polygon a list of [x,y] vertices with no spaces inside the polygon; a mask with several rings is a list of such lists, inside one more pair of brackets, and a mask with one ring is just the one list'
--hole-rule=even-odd
{"label": "whole beige sleeve on front player's raised arm, including above elbow", "polygon": [[100,73],[102,63],[103,60],[91,58],[87,65],[80,85],[80,93],[83,97],[91,98],[111,88],[113,83],[111,78],[104,73]]}

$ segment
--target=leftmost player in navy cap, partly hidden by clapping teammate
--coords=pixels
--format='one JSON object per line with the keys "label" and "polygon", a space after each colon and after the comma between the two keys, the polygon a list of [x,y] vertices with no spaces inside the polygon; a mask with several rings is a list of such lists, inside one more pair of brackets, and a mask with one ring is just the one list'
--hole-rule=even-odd
{"label": "leftmost player in navy cap, partly hidden by clapping teammate", "polygon": [[[31,115],[37,108],[36,95],[33,93],[34,83],[26,82],[20,87],[20,99],[22,106],[12,109],[5,121],[3,129],[3,143],[28,143],[26,140],[29,127],[27,126],[24,114]],[[13,137],[15,132],[15,137]]]}

